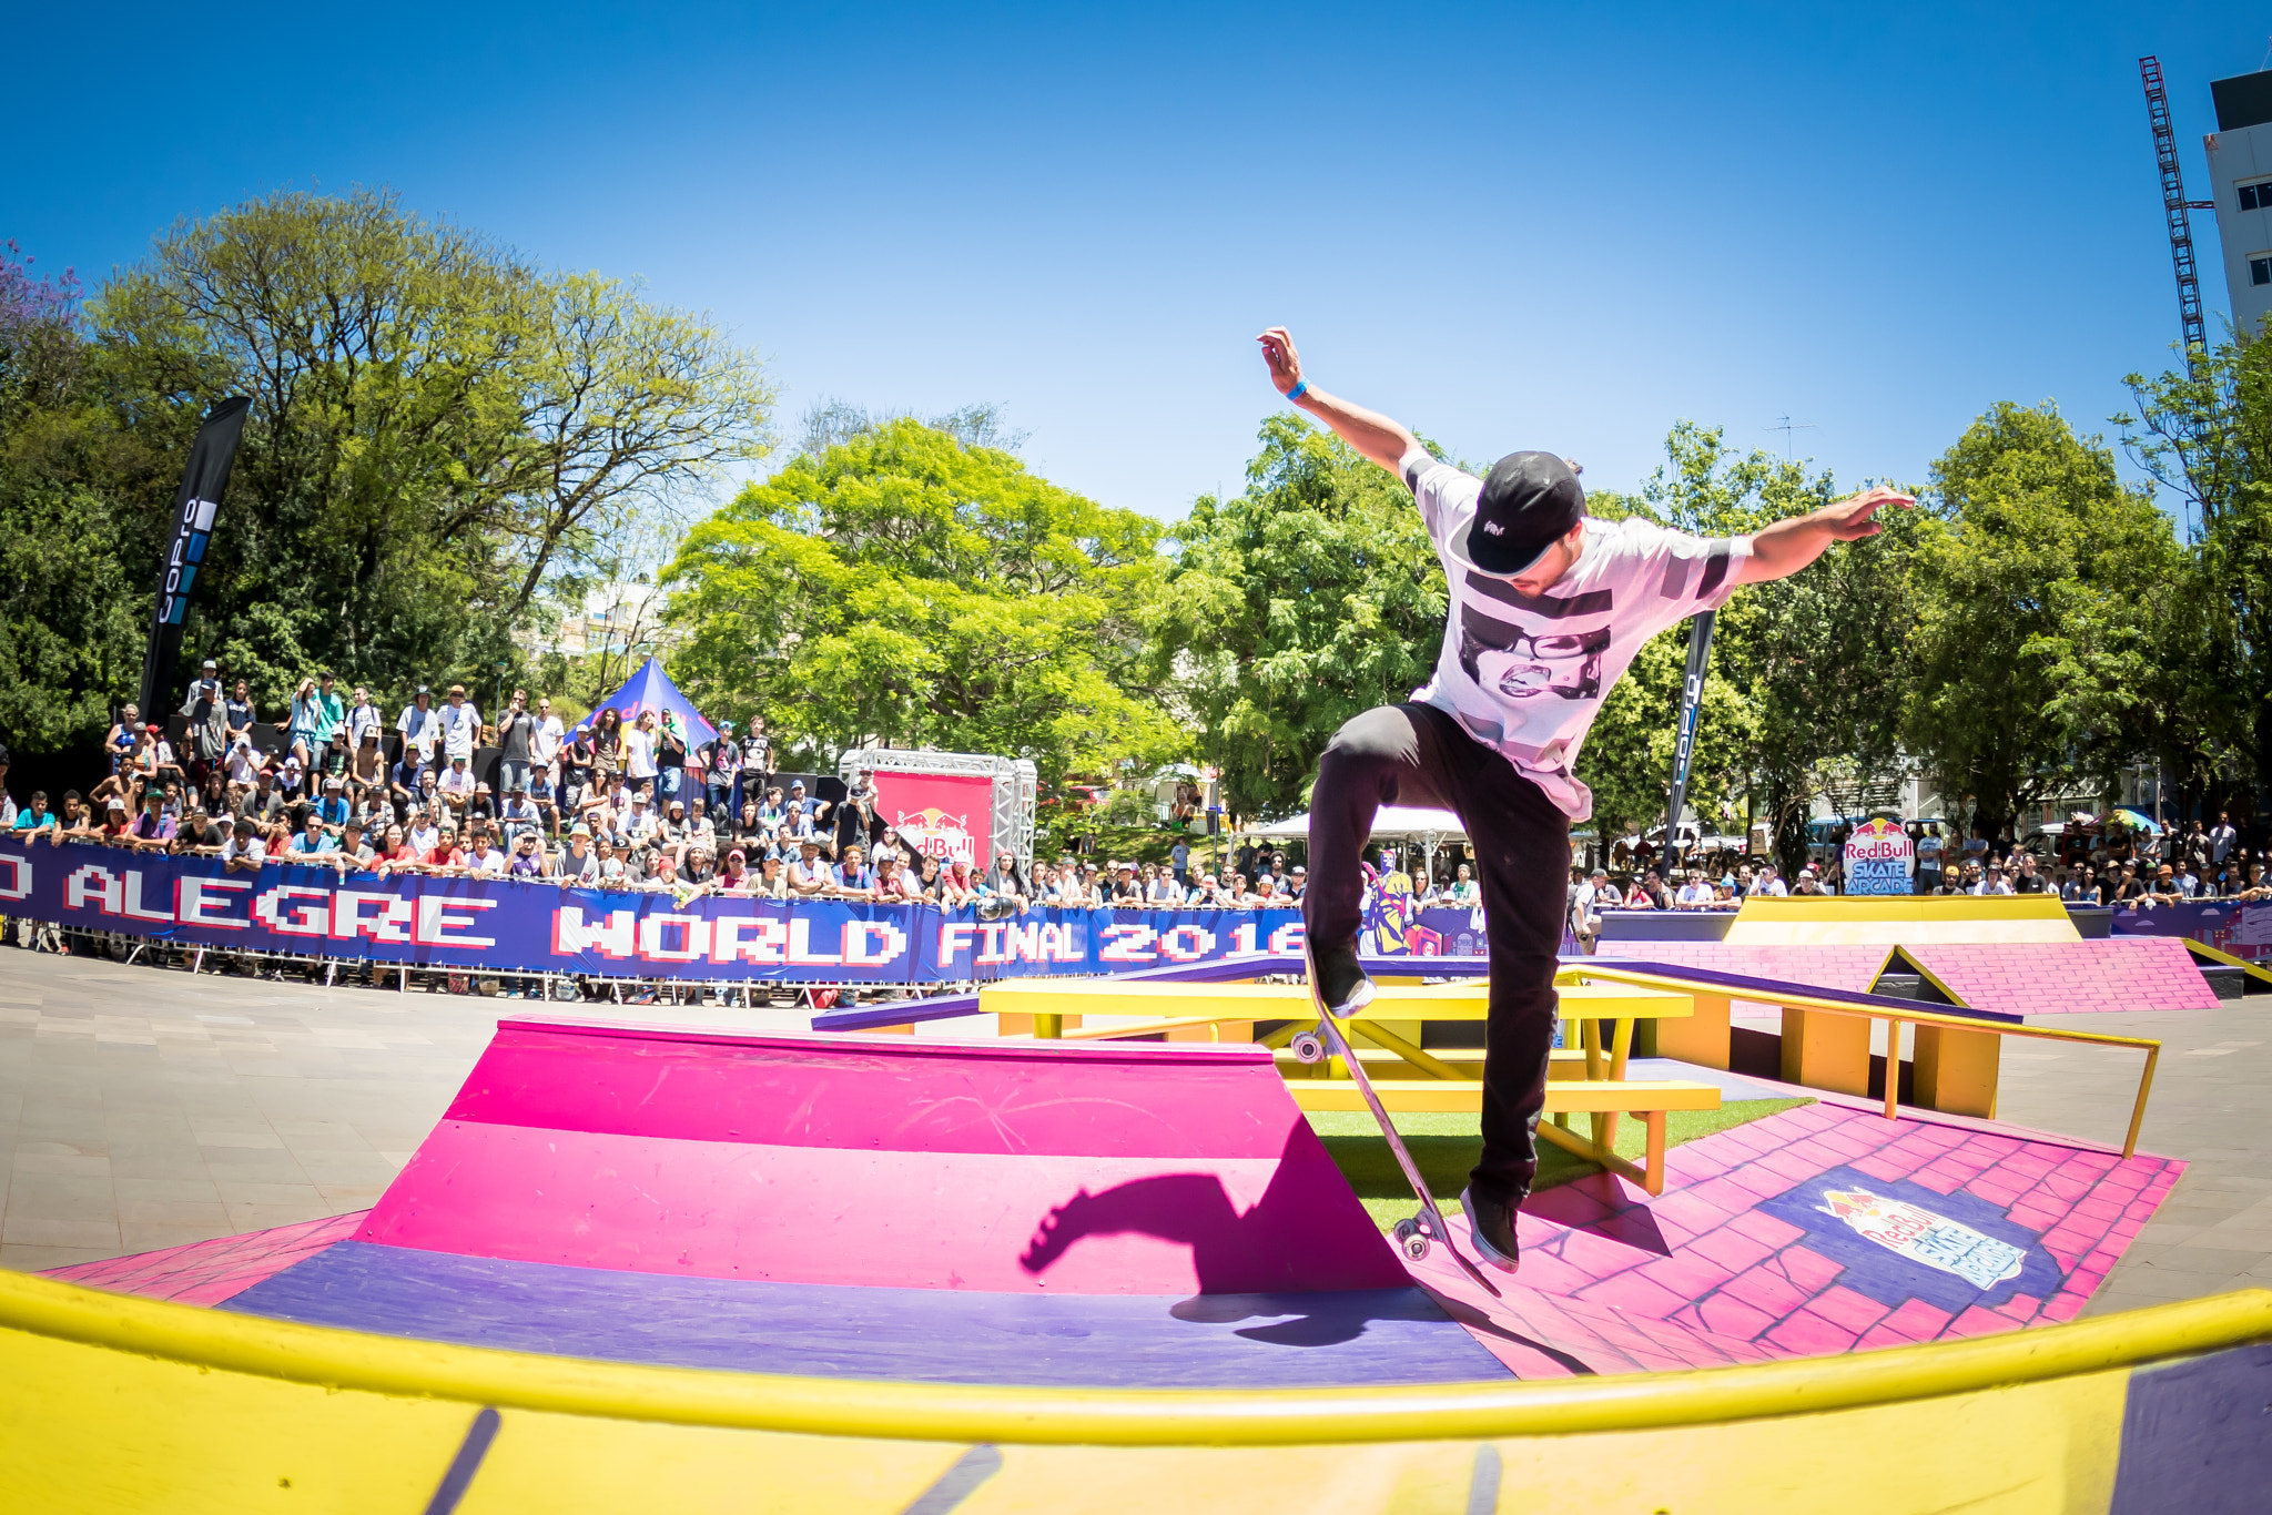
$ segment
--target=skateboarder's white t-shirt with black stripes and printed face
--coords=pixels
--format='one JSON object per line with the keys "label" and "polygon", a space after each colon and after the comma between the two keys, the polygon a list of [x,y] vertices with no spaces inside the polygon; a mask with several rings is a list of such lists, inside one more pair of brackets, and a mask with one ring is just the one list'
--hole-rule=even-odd
{"label": "skateboarder's white t-shirt with black stripes and printed face", "polygon": [[[1413,447],[1400,466],[1452,591],[1436,677],[1413,700],[1447,711],[1545,790],[1570,820],[1593,790],[1570,770],[1586,729],[1640,645],[1727,604],[1752,538],[1699,538],[1647,520],[1586,520],[1586,547],[1545,595],[1461,566],[1484,482]],[[1674,711],[1665,711],[1670,722]]]}

